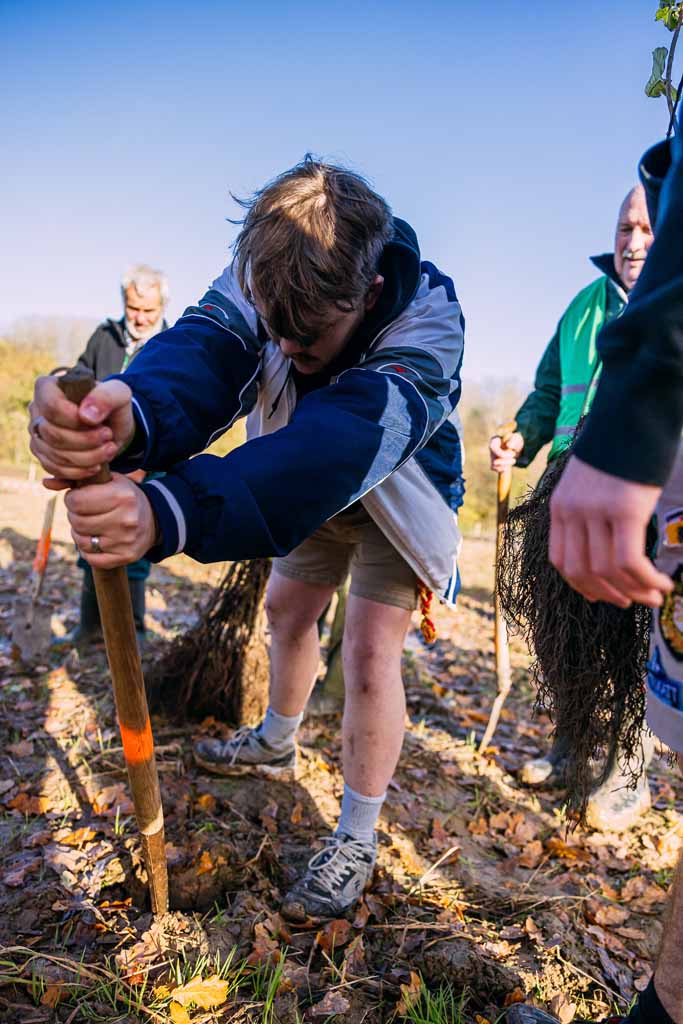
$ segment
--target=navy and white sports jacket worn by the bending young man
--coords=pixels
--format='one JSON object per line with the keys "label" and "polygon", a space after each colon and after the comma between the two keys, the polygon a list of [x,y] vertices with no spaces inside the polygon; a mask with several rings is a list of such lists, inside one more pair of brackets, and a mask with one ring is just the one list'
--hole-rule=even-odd
{"label": "navy and white sports jacket worn by the bending young man", "polygon": [[[407,223],[394,225],[380,298],[325,376],[295,371],[231,266],[122,376],[137,432],[113,468],[166,473],[142,484],[163,538],[153,561],[178,551],[202,562],[285,555],[360,501],[453,603],[465,325],[451,279],[421,262]],[[246,444],[190,458],[241,416]]]}

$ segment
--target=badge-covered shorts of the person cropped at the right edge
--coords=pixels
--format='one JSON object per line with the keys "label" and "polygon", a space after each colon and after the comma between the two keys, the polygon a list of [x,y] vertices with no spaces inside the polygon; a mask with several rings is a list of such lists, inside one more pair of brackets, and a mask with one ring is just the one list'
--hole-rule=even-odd
{"label": "badge-covered shorts of the person cropped at the right edge", "polygon": [[675,590],[652,612],[647,663],[647,724],[677,753],[683,752],[683,446],[656,508],[656,565]]}

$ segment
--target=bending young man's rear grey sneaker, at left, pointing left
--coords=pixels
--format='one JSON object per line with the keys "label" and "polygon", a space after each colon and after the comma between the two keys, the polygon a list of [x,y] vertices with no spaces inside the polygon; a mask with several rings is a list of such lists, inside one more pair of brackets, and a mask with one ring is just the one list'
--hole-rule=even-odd
{"label": "bending young man's rear grey sneaker, at left, pointing left", "polygon": [[193,751],[202,768],[218,775],[259,772],[278,778],[294,778],[296,746],[275,751],[261,738],[258,728],[243,726],[229,739],[200,739]]}

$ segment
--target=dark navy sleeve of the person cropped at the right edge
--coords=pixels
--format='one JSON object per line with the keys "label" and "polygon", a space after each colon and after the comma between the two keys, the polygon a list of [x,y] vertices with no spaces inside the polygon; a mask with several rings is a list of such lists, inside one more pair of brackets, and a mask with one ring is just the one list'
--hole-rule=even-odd
{"label": "dark navy sleeve of the person cropped at the right edge", "polygon": [[645,266],[625,312],[600,335],[602,377],[575,447],[597,469],[657,485],[683,426],[682,131],[679,120]]}

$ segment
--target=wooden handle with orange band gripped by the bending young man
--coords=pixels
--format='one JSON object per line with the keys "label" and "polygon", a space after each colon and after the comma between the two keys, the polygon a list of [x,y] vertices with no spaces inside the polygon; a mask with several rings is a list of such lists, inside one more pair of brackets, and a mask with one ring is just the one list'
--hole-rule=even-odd
{"label": "wooden handle with orange band gripped by the bending young man", "polygon": [[[95,379],[89,371],[73,370],[60,377],[57,384],[70,401],[80,404],[95,386]],[[77,480],[74,486],[109,483],[111,479],[109,466],[102,466],[96,476]],[[123,753],[137,826],[140,830],[142,856],[150,880],[152,909],[154,913],[165,913],[168,910],[168,874],[164,812],[128,577],[123,565],[113,569],[93,568],[92,574],[112,675]]]}

